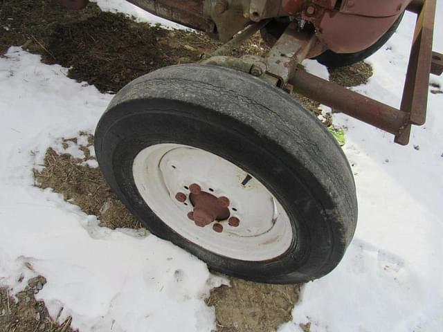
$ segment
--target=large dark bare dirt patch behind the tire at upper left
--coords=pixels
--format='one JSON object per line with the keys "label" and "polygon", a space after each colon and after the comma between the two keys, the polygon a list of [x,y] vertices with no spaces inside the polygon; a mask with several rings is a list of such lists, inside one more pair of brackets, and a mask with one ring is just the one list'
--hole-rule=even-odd
{"label": "large dark bare dirt patch behind the tire at upper left", "polygon": [[[199,61],[220,44],[203,33],[165,30],[123,14],[102,12],[95,3],[71,11],[48,0],[3,0],[0,54],[23,46],[43,62],[69,68],[69,77],[116,92],[136,77],[172,64]],[[267,50],[258,35],[233,55]]]}

